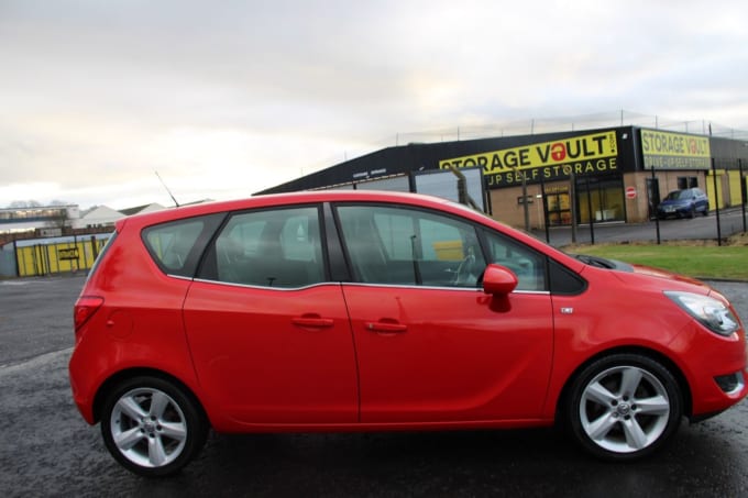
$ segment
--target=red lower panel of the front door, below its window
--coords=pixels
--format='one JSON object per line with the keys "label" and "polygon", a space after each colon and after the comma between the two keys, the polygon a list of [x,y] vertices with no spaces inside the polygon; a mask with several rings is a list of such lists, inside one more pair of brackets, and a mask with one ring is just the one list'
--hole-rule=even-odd
{"label": "red lower panel of the front door, below its window", "polygon": [[540,416],[552,357],[548,294],[345,285],[361,421]]}

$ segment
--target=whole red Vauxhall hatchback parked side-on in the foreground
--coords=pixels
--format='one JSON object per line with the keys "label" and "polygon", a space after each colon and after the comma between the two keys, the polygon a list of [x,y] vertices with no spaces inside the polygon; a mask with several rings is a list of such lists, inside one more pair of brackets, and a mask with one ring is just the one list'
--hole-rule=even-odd
{"label": "whole red Vauxhall hatchback parked side-on in the foreground", "polygon": [[219,432],[561,423],[616,461],[746,394],[698,281],[573,257],[417,195],[304,192],[121,220],[75,305],[73,395],[132,472]]}

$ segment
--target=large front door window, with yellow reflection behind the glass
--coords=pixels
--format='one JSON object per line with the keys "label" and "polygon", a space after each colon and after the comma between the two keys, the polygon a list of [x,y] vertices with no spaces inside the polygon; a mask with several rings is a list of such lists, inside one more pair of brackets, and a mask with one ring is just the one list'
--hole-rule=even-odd
{"label": "large front door window, with yellow reflection behind the glass", "polygon": [[366,284],[475,287],[485,268],[475,229],[417,209],[341,206],[355,278]]}

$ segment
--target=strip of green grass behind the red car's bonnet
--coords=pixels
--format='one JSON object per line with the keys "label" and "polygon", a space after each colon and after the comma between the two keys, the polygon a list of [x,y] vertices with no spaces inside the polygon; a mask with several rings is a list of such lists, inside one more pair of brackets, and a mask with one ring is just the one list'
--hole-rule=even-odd
{"label": "strip of green grass behind the red car's bonnet", "polygon": [[652,266],[696,278],[748,281],[747,243],[746,234],[740,234],[722,246],[712,241],[680,241],[661,245],[575,245],[564,247],[564,251]]}

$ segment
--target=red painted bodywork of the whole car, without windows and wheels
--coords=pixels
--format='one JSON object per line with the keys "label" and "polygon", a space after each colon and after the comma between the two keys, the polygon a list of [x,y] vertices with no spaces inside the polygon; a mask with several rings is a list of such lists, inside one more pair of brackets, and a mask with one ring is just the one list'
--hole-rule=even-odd
{"label": "red painted bodywork of the whole car, without windows and wheels", "polygon": [[[211,212],[327,201],[398,202],[461,215],[580,274],[578,296],[329,283],[299,290],[164,275],[141,241],[150,225]],[[307,192],[127,218],[87,281],[69,373],[89,423],[112,376],[151,369],[183,383],[219,431],[547,425],[574,372],[614,348],[667,358],[689,414],[746,396],[714,376],[746,370],[745,332],[718,336],[662,290],[718,294],[669,274],[600,269],[468,209],[385,192]],[[90,299],[91,297],[97,299]],[[561,313],[573,309],[572,313]]]}

